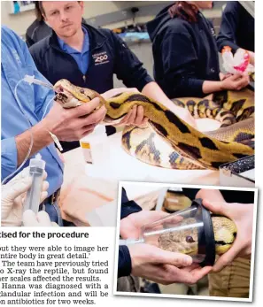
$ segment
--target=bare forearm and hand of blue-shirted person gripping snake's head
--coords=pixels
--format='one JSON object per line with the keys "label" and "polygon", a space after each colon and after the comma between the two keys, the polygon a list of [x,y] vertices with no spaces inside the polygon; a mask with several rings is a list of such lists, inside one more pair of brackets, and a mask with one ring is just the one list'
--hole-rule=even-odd
{"label": "bare forearm and hand of blue-shirted person gripping snake's head", "polygon": [[[55,134],[60,141],[77,141],[92,132],[94,127],[104,119],[106,113],[104,107],[91,113],[98,105],[98,98],[93,99],[90,104],[83,104],[69,110],[57,103],[54,104],[46,118],[32,127],[34,144],[30,156],[53,142],[50,133]],[[89,116],[85,117],[85,115]],[[30,131],[27,130],[15,137],[18,166],[27,155],[31,140],[30,135]]]}

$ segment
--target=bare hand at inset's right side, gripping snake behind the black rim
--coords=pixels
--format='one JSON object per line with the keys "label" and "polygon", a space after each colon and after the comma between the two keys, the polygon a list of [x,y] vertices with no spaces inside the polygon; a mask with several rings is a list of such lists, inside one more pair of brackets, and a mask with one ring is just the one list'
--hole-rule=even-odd
{"label": "bare hand at inset's right side, gripping snake behind the black rim", "polygon": [[205,207],[213,213],[232,219],[236,224],[236,240],[232,247],[213,265],[213,272],[220,272],[236,257],[251,256],[253,203],[225,203],[209,202],[203,200]]}

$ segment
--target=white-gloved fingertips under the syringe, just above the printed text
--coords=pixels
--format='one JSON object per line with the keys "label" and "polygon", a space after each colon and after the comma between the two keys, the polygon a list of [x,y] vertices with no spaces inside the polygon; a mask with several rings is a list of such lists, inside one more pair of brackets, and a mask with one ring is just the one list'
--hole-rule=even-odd
{"label": "white-gloved fingertips under the syringe, just above the printed text", "polygon": [[46,211],[40,211],[35,214],[32,210],[27,210],[23,213],[23,226],[58,226],[57,223],[51,222]]}

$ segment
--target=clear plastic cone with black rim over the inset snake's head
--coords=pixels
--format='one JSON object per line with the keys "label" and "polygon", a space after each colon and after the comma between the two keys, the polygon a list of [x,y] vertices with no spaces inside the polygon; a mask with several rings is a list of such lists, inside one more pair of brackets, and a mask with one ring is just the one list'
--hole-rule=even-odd
{"label": "clear plastic cone with black rim over the inset snake's head", "polygon": [[141,242],[188,254],[194,262],[213,265],[215,241],[210,211],[201,200],[182,211],[143,226]]}

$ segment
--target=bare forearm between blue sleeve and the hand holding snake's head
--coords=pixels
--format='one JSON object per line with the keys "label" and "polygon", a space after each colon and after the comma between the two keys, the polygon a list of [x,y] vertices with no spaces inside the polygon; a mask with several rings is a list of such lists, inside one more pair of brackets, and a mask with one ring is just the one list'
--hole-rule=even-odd
{"label": "bare forearm between blue sleeve and the hand holding snake's head", "polygon": [[[45,120],[43,119],[40,123],[36,124],[32,129],[33,134],[33,147],[30,152],[30,157],[33,156],[39,150],[50,145],[53,139],[50,136],[49,130],[46,128]],[[25,131],[15,137],[16,146],[18,150],[18,166],[24,161],[27,156],[27,152],[30,147],[31,133],[30,130]]]}

